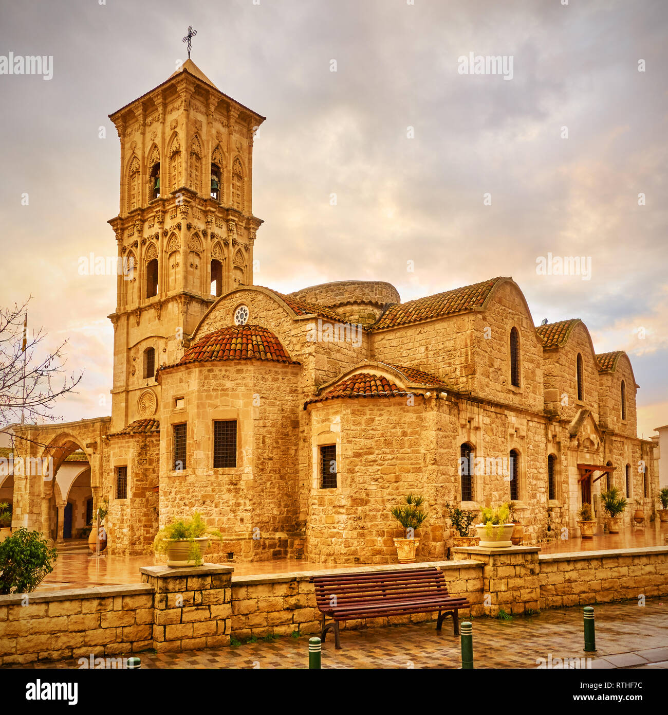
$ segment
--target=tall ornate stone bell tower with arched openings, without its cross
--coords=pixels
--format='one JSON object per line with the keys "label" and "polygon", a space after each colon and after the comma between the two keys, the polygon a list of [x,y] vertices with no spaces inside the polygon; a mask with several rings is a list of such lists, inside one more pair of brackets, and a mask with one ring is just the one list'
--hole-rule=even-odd
{"label": "tall ornate stone bell tower with arched openings, without its cross", "polygon": [[112,430],[158,411],[161,365],[216,296],[253,282],[253,137],[265,117],[191,59],[109,115],[121,140]]}

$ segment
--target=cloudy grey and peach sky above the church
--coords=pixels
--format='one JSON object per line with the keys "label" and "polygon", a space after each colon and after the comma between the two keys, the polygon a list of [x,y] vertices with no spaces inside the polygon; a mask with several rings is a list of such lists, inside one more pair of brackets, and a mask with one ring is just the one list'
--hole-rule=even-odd
{"label": "cloudy grey and peach sky above the church", "polygon": [[[78,272],[116,255],[107,114],[169,77],[191,24],[196,64],[267,117],[256,283],[409,300],[512,276],[537,324],[581,317],[597,352],[629,352],[639,433],[668,423],[668,5],[562,1],[4,3],[0,56],[53,56],[53,79],[0,75],[0,304],[32,295],[32,327],[85,368],[56,411],[110,412],[116,280]],[[512,56],[512,79],[460,74],[469,53]],[[538,275],[548,254],[591,260],[590,280]]]}

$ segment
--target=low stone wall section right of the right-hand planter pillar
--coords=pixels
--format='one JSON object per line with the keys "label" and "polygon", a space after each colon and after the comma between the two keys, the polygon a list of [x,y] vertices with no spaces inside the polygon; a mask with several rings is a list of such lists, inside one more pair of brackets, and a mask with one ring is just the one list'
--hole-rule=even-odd
{"label": "low stone wall section right of the right-hand planter pillar", "polygon": [[627,548],[539,556],[543,608],[668,596],[668,548]]}

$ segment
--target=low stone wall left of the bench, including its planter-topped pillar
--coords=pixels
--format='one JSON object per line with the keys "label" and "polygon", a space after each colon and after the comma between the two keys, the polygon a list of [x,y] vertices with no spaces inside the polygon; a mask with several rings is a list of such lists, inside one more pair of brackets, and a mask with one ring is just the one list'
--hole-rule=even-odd
{"label": "low stone wall left of the bench, including its planter-topped pillar", "polygon": [[151,566],[145,583],[0,596],[0,664],[229,646],[231,566]]}

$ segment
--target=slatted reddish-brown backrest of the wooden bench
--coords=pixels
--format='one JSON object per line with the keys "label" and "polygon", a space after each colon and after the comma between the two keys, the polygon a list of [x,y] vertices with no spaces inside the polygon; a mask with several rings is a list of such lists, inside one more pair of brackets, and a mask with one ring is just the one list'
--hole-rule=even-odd
{"label": "slatted reddish-brown backrest of the wooden bench", "polygon": [[378,603],[403,596],[448,596],[439,568],[414,568],[375,573],[342,573],[311,576],[316,602],[321,610],[358,603]]}

